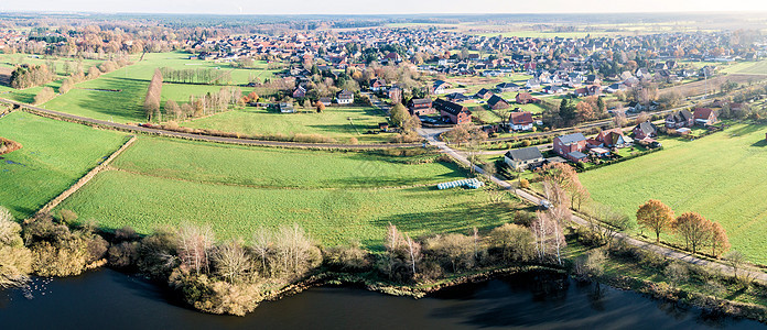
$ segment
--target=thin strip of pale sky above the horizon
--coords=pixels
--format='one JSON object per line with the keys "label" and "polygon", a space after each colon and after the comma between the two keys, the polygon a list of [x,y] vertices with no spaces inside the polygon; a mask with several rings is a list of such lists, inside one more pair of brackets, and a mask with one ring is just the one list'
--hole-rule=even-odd
{"label": "thin strip of pale sky above the horizon", "polygon": [[216,14],[767,12],[767,0],[0,0],[0,11]]}

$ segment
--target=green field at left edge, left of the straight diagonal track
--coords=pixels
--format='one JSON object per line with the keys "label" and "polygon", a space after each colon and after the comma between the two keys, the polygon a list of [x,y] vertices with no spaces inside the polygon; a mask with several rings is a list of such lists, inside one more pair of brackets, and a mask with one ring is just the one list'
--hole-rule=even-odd
{"label": "green field at left edge, left of the straight diagonal track", "polygon": [[0,156],[0,206],[29,217],[126,142],[112,131],[15,111],[0,119],[0,136],[22,148]]}

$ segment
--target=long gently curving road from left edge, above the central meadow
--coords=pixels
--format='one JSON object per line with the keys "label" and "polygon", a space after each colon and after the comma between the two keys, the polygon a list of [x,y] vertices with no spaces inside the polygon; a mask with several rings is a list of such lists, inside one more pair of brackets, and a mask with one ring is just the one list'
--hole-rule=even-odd
{"label": "long gently curving road from left edge, above the central meadow", "polygon": [[223,136],[213,136],[213,135],[182,133],[182,132],[174,132],[174,131],[160,130],[160,129],[150,129],[150,128],[142,128],[142,127],[138,127],[138,125],[116,123],[116,122],[106,121],[106,120],[97,120],[97,119],[93,119],[93,118],[86,118],[86,117],[75,116],[75,114],[71,114],[71,113],[43,109],[40,107],[34,107],[31,105],[17,102],[17,101],[8,100],[8,99],[0,99],[0,103],[19,106],[22,108],[30,109],[33,112],[45,113],[45,114],[52,116],[54,118],[69,119],[69,120],[75,120],[78,122],[86,122],[86,123],[90,123],[90,124],[95,124],[95,125],[99,125],[99,127],[112,128],[112,129],[117,129],[120,131],[158,134],[158,135],[181,138],[181,139],[203,140],[203,141],[218,142],[218,143],[235,143],[235,144],[282,146],[282,147],[320,147],[320,148],[388,148],[388,147],[413,147],[413,146],[421,146],[422,145],[421,143],[402,143],[402,144],[393,144],[393,143],[392,144],[299,143],[299,142],[262,141],[262,140],[250,140],[250,139],[223,138]]}

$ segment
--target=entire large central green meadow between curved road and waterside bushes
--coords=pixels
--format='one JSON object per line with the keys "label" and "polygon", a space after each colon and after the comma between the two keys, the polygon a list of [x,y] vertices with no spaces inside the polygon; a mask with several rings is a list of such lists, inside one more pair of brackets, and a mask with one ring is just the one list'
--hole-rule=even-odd
{"label": "entire large central green meadow between curved road and waterside bushes", "polygon": [[322,244],[359,241],[370,249],[381,248],[390,222],[421,235],[511,220],[509,207],[489,204],[483,190],[436,190],[434,183],[465,173],[443,163],[403,163],[418,157],[145,138],[60,208],[142,233],[210,223],[219,239],[247,240],[259,226],[295,222]]}

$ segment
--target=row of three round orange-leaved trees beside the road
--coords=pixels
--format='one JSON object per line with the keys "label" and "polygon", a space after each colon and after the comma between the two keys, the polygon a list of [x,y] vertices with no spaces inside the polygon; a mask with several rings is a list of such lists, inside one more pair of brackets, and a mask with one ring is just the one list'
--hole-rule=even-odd
{"label": "row of three round orange-leaved trees beside the road", "polygon": [[677,218],[670,207],[650,199],[637,210],[637,222],[656,234],[660,242],[662,232],[673,231],[684,240],[684,249],[693,254],[710,248],[711,255],[719,257],[731,248],[727,232],[717,223],[696,212],[685,212]]}

